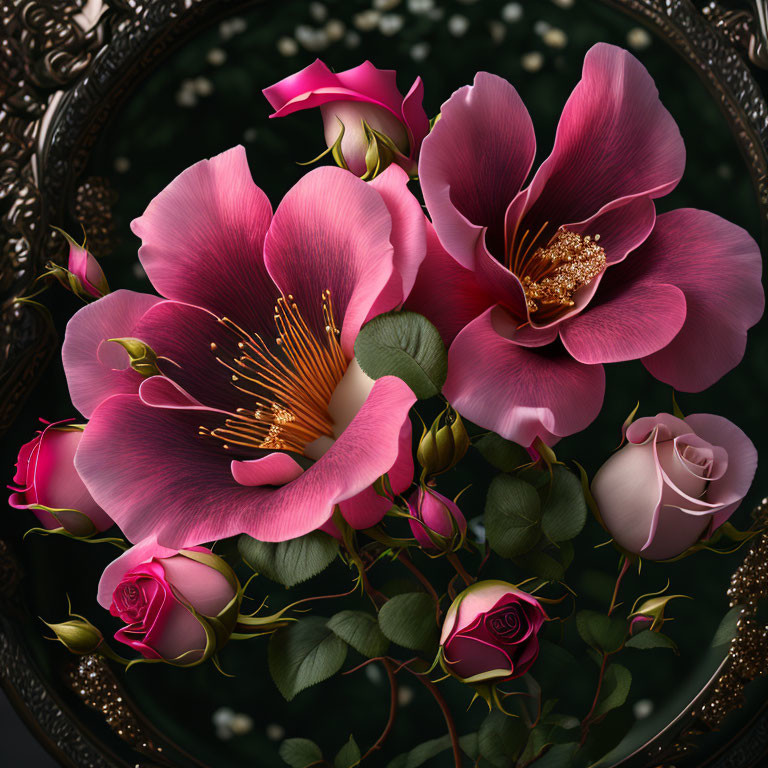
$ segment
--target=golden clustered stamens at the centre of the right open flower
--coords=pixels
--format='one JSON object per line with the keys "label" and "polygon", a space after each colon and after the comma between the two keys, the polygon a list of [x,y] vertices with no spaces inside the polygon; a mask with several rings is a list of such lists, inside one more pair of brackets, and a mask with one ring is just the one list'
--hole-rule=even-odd
{"label": "golden clustered stamens at the centre of the right open flower", "polygon": [[538,322],[551,320],[574,306],[576,292],[605,269],[605,250],[598,245],[600,235],[582,236],[561,227],[545,246],[534,250],[548,223],[530,242],[526,230],[507,257],[508,268],[523,284],[528,312]]}

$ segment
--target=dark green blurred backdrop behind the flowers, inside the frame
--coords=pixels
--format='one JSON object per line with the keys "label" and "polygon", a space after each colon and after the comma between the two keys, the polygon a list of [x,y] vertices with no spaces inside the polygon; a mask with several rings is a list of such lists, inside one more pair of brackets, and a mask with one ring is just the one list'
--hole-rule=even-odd
{"label": "dark green blurred backdrop behind the flowers, inside the frame", "polygon": [[[348,29],[353,28],[353,15],[369,7],[367,3],[356,2],[325,5],[328,18],[343,20]],[[576,0],[572,8],[544,0],[521,5],[523,18],[506,24],[506,37],[501,43],[492,41],[488,28],[490,20],[501,18],[504,3],[495,0],[436,4],[445,11],[443,18],[436,20],[409,12],[403,2],[389,11],[404,18],[402,30],[395,36],[385,36],[378,31],[359,33],[357,47],[350,48],[341,41],[317,53],[300,48],[293,56],[281,55],[276,41],[293,35],[297,25],[322,26],[312,18],[309,4],[304,2],[267,3],[256,7],[241,15],[245,24],[240,27],[244,28],[232,36],[228,36],[226,27],[201,34],[137,88],[125,109],[115,116],[88,169],[91,174],[108,176],[119,195],[116,248],[110,254],[102,254],[112,288],[150,290],[136,271],[138,242],[130,234],[129,222],[142,213],[149,200],[176,174],[197,160],[244,143],[256,183],[267,192],[273,205],[277,204],[304,172],[295,161],[314,157],[324,148],[321,120],[317,112],[309,112],[270,121],[267,118],[270,110],[260,91],[306,66],[316,56],[336,70],[356,66],[365,58],[378,67],[394,68],[403,92],[421,75],[430,116],[439,111],[440,104],[455,88],[471,82],[477,70],[503,75],[517,87],[533,116],[538,140],[537,163],[540,162],[550,151],[560,110],[579,78],[586,50],[597,41],[626,46],[627,33],[637,22],[596,0]],[[448,28],[447,20],[454,14],[465,16],[470,22],[468,31],[461,37],[452,35]],[[536,31],[540,29],[537,22],[541,21],[565,31],[568,43],[564,49],[553,49],[544,43]],[[423,61],[414,61],[413,46],[424,42],[430,46],[429,55]],[[210,63],[209,52],[213,48],[225,51],[223,64]],[[525,71],[521,65],[522,55],[530,51],[540,51],[544,57],[542,68],[535,73]],[[659,212],[680,206],[704,208],[740,224],[759,239],[759,211],[749,174],[715,100],[686,62],[658,40],[635,53],[656,79],[661,98],[680,125],[688,150],[685,177],[673,194],[658,201]],[[182,82],[199,77],[210,83],[211,93],[199,96],[195,106],[180,106],[177,94]],[[74,221],[61,224],[77,231]],[[54,295],[56,290],[50,294],[50,305],[63,329],[77,304],[68,296]],[[717,296],[712,300],[717,301]],[[750,435],[761,454],[768,448],[763,400],[768,385],[766,335],[763,321],[752,330],[746,357],[736,371],[707,392],[678,397],[684,412],[713,412],[732,419]],[[641,414],[652,415],[671,409],[671,394],[669,387],[656,382],[639,363],[609,366],[603,412],[585,432],[563,440],[557,449],[558,456],[577,459],[593,474],[616,446],[619,425],[635,403],[640,401]],[[32,434],[37,416],[54,420],[73,415],[57,360],[4,445],[8,474],[15,449]],[[116,439],[119,440],[119,436]],[[441,485],[441,490],[448,492],[454,486],[458,489],[472,482],[473,487],[463,497],[462,506],[467,516],[473,517],[482,511],[488,479],[480,462],[470,463],[461,475]],[[764,491],[765,485],[758,479],[733,522],[745,525],[749,509]],[[9,524],[20,534],[28,521],[14,512]],[[590,543],[599,543],[604,538],[602,531],[590,521],[579,540],[577,563],[569,574],[569,581],[582,599],[603,608],[607,602],[605,585],[615,572],[616,555],[610,548],[593,551]],[[93,597],[98,575],[112,555],[106,547],[29,538],[20,546],[20,553],[30,572],[35,574],[26,583],[32,614],[40,614],[47,620],[63,618],[64,593],[68,592],[77,612],[88,615],[105,628],[110,626],[108,617],[105,618]],[[704,674],[702,659],[714,628],[727,608],[727,579],[739,557],[718,558],[705,553],[672,566],[648,564],[642,584],[636,577],[627,579],[627,595],[659,589],[669,577],[672,591],[687,592],[696,598],[674,605],[677,620],[669,626],[669,634],[680,644],[681,656],[674,657],[665,651],[651,651],[645,656],[636,651],[627,652],[637,657],[627,660],[635,671],[633,699],[649,698],[657,707],[661,706],[669,697],[670,689]],[[440,564],[434,567],[436,574],[443,568]],[[396,573],[393,569],[391,576]],[[496,564],[488,575],[512,581],[524,576],[503,563]],[[383,574],[378,578],[383,578]],[[318,583],[292,590],[291,596],[321,590],[340,591],[339,585],[347,583],[347,579],[344,567],[336,563]],[[277,592],[273,585],[259,582],[250,592],[260,601],[270,590]],[[277,605],[279,599],[273,602]],[[327,615],[342,607],[349,606],[329,604]],[[318,611],[322,612],[322,608]],[[39,663],[57,678],[61,663],[66,660],[65,652],[41,641],[40,626],[32,620],[28,629],[29,642]],[[353,655],[350,652],[350,660]],[[288,705],[269,679],[266,640],[231,645],[222,654],[222,663],[227,671],[236,672],[235,679],[220,676],[209,665],[191,672],[156,665],[139,666],[125,677],[129,691],[143,711],[188,751],[216,768],[279,765],[277,743],[270,741],[265,731],[270,723],[284,728],[287,736],[315,738],[326,748],[326,754],[332,755],[350,732],[365,749],[375,740],[386,718],[385,682],[369,680],[365,672],[336,678],[300,694]],[[405,679],[403,684],[413,687]],[[457,713],[460,732],[474,730],[482,717],[481,708],[461,714],[469,701],[467,691],[457,683],[445,688]],[[386,751],[388,757],[443,733],[434,704],[423,698],[420,691],[414,689],[413,693],[414,700],[403,707]],[[591,691],[587,694],[590,698]],[[220,706],[248,713],[254,720],[253,730],[225,742],[218,740],[211,714]],[[119,746],[117,740],[115,745]],[[383,760],[381,764],[385,764]],[[438,758],[434,764],[442,765],[444,761]]]}

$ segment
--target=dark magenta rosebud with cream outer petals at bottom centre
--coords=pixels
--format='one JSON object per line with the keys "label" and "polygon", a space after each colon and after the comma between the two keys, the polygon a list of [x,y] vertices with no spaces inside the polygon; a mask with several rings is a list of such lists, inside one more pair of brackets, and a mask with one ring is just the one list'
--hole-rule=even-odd
{"label": "dark magenta rosebud with cream outer petals at bottom centre", "polygon": [[478,581],[448,609],[440,636],[443,669],[465,683],[524,675],[539,655],[547,614],[532,595],[505,581]]}

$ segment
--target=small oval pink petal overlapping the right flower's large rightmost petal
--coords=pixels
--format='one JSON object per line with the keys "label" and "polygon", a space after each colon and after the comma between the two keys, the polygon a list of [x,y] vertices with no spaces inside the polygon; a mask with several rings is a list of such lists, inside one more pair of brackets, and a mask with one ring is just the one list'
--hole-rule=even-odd
{"label": "small oval pink petal overlapping the right flower's large rightmost petal", "polygon": [[674,285],[611,280],[580,315],[560,326],[560,338],[581,363],[636,360],[662,349],[685,322],[685,296]]}

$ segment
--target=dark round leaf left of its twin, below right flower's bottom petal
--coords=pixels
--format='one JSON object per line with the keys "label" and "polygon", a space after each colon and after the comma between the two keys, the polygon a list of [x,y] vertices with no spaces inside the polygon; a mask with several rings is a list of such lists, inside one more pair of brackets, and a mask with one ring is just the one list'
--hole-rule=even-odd
{"label": "dark round leaf left of its twin, below right flower's bottom petal", "polygon": [[497,475],[485,501],[488,543],[502,557],[519,557],[541,538],[541,503],[536,489],[515,477]]}

